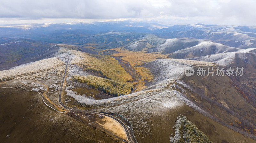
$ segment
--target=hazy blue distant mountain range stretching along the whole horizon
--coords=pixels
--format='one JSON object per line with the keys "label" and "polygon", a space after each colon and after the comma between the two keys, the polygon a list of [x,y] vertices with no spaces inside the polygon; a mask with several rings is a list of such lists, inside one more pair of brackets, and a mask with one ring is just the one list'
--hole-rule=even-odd
{"label": "hazy blue distant mountain range stretching along the whole horizon", "polygon": [[[227,46],[239,48],[254,47],[256,43],[255,27],[237,25],[188,24],[170,26],[157,23],[125,21],[96,22],[94,24],[31,24],[27,29],[22,28],[24,28],[24,26],[21,25],[10,25],[8,27],[1,27],[0,36],[32,38],[36,40],[54,43],[66,42],[73,44],[86,44],[88,42],[91,42],[90,39],[98,38],[97,33],[136,32],[154,34],[159,38],[208,39],[225,44]],[[115,40],[111,42],[115,42]]]}

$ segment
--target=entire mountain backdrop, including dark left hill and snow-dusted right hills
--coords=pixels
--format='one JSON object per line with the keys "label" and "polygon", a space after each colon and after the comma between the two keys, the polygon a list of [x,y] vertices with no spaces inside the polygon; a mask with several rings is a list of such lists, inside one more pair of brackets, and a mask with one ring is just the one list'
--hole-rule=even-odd
{"label": "entire mountain backdrop, including dark left hill and snow-dusted right hills", "polygon": [[24,25],[8,25],[0,27],[0,70],[45,58],[40,55],[56,44],[76,45],[96,53],[123,47],[186,59],[255,48],[256,28],[204,24],[170,26],[131,21],[29,24],[25,28]]}

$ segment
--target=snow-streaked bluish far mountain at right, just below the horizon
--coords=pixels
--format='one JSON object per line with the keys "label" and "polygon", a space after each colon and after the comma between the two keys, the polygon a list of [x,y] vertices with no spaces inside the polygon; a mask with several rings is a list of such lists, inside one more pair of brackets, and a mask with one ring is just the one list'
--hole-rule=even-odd
{"label": "snow-streaked bluish far mountain at right, just below the horizon", "polygon": [[253,48],[255,46],[255,27],[237,25],[173,25],[158,29],[154,34],[166,38],[207,39],[237,48]]}

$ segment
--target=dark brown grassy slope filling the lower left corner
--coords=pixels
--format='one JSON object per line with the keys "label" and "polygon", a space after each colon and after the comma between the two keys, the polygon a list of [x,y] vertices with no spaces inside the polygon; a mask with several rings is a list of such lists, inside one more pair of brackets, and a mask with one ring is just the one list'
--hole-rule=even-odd
{"label": "dark brown grassy slope filling the lower left corner", "polygon": [[[22,86],[20,83],[0,83],[1,87]],[[10,94],[12,93],[12,94]],[[1,89],[0,142],[37,143],[121,143],[102,132],[46,106],[42,96],[21,88]],[[19,100],[17,100],[19,98]],[[46,100],[47,102],[47,100]],[[12,104],[13,106],[10,106]],[[40,112],[39,112],[40,111]],[[10,134],[9,138],[6,135]]]}

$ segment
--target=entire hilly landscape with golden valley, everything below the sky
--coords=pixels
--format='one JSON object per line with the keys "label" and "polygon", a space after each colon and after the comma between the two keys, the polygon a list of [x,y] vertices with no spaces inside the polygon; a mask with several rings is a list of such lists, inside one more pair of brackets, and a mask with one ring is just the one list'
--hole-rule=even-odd
{"label": "entire hilly landscape with golden valley, everything below the sky", "polygon": [[107,24],[0,27],[0,142],[256,142],[253,28]]}

